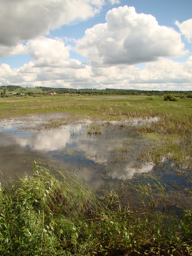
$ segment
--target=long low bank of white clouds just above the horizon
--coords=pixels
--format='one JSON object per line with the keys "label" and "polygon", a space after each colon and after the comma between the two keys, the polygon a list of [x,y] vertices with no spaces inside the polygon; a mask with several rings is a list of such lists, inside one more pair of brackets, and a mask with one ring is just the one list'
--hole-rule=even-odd
{"label": "long low bank of white clouds just above the horizon", "polygon": [[[76,63],[71,65],[70,61]],[[148,62],[143,68],[133,65],[91,67],[78,60],[66,60],[66,67],[37,67],[30,61],[23,67],[11,69],[0,66],[0,84],[15,84],[22,87],[65,88],[117,88],[143,90],[191,90],[192,58],[186,62],[175,62],[161,58]],[[68,66],[67,66],[68,65]],[[83,68],[81,68],[83,66]]]}

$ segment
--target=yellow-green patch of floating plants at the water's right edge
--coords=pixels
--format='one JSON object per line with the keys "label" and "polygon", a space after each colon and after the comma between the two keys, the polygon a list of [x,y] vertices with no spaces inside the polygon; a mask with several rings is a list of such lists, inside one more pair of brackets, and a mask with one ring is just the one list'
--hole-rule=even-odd
{"label": "yellow-green patch of floating plants at the water's right edge", "polygon": [[191,142],[186,143],[182,136],[177,139],[172,135],[159,137],[160,140],[154,138],[137,153],[138,161],[147,161],[162,170],[176,170],[179,176],[192,182]]}

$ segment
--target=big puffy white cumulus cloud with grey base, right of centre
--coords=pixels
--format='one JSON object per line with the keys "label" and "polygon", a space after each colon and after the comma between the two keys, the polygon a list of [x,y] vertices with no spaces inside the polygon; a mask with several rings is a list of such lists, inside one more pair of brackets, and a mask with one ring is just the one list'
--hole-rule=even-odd
{"label": "big puffy white cumulus cloud with grey base, right of centre", "polygon": [[134,7],[113,8],[106,21],[87,29],[77,40],[77,53],[94,66],[133,65],[188,53],[183,50],[180,33],[159,26],[152,15],[137,14]]}

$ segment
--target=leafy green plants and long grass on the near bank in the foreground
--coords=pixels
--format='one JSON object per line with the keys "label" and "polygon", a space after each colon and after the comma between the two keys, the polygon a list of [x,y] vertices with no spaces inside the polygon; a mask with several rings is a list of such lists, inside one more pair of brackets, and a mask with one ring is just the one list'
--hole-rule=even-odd
{"label": "leafy green plants and long grass on the near bank in the foreground", "polygon": [[80,176],[57,171],[35,164],[19,187],[1,186],[1,255],[191,255],[191,209],[169,212],[173,195],[156,176],[96,196]]}

